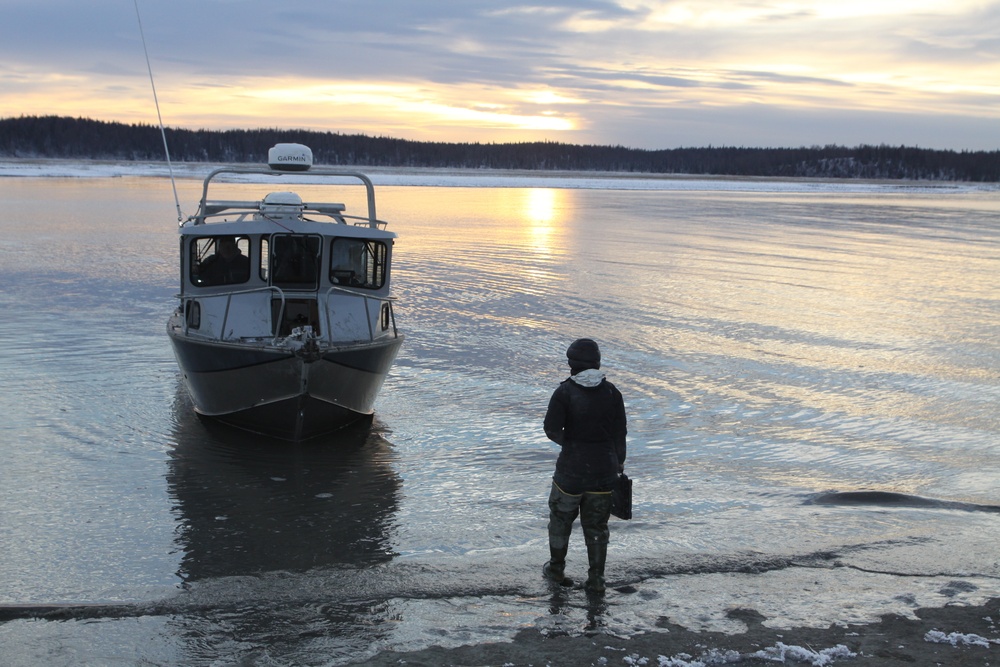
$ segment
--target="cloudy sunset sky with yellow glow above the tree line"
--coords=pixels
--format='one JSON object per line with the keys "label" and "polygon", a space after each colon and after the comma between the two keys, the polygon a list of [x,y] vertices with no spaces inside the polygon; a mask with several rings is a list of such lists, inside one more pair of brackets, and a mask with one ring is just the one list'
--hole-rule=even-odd
{"label": "cloudy sunset sky with yellow glow above the tree line", "polygon": [[0,118],[156,124],[142,34],[168,127],[1000,149],[1000,0],[0,0]]}

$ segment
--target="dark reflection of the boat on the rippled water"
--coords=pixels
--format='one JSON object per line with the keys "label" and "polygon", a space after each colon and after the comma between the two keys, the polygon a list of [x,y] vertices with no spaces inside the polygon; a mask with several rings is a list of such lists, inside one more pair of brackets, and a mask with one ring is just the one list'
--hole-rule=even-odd
{"label": "dark reflection of the boat on the rippled water", "polygon": [[182,579],[368,567],[393,558],[390,524],[401,482],[377,426],[361,422],[275,447],[225,424],[199,423],[186,397],[177,405],[166,480]]}

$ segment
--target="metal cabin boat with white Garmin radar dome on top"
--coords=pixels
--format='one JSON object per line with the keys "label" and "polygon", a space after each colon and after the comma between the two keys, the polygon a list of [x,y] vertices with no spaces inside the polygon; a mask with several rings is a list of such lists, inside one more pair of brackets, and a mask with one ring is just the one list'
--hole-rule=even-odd
{"label": "metal cabin boat with white Garmin radar dome on top", "polygon": [[[338,197],[353,189],[367,211],[287,190],[209,198],[210,185],[288,180]],[[180,223],[179,304],[167,322],[195,411],[293,441],[370,419],[404,338],[390,296],[395,238],[371,179],[314,166],[307,146],[274,146],[266,167],[212,171]]]}

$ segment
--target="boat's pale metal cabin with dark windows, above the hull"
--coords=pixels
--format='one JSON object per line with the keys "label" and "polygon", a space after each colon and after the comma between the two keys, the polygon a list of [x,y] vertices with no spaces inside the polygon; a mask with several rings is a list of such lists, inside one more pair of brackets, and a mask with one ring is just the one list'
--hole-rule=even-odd
{"label": "boat's pale metal cabin with dark windows, above the hull", "polygon": [[[224,171],[232,170],[213,176]],[[367,177],[340,175],[371,187]],[[389,296],[395,234],[375,218],[373,197],[360,217],[294,192],[210,201],[211,178],[198,214],[181,226],[187,335],[246,341],[308,331],[333,345],[396,335]]]}

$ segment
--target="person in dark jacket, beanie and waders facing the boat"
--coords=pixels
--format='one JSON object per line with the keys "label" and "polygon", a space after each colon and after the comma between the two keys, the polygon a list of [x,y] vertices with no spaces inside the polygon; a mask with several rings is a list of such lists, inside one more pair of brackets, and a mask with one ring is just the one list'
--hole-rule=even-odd
{"label": "person in dark jacket, beanie and waders facing the boat", "polygon": [[566,350],[570,377],[549,399],[545,435],[560,446],[549,494],[550,558],[542,568],[551,581],[571,586],[565,575],[573,522],[580,517],[589,569],[585,588],[604,593],[611,490],[625,469],[625,402],[601,368],[601,350],[589,338]]}

